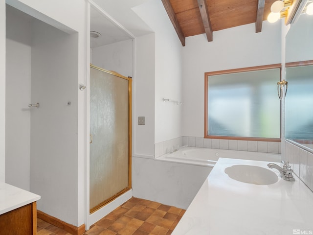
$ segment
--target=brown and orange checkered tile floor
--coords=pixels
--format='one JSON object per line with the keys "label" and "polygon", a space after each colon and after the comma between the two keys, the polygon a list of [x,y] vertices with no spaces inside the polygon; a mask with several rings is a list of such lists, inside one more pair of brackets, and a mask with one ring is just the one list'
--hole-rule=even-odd
{"label": "brown and orange checkered tile floor", "polygon": [[[170,235],[185,210],[131,198],[93,224],[84,235]],[[37,235],[70,235],[38,219]]]}

